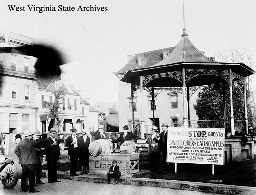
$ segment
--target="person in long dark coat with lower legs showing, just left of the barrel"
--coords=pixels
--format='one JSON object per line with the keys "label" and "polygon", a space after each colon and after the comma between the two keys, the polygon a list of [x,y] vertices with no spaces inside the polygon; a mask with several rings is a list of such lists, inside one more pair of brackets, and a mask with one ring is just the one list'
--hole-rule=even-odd
{"label": "person in long dark coat with lower legs showing, just left of the barrel", "polygon": [[89,144],[91,143],[90,138],[87,136],[85,130],[81,131],[82,136],[79,137],[80,150],[79,150],[79,164],[82,167],[80,175],[89,174],[87,172],[87,167],[89,164]]}

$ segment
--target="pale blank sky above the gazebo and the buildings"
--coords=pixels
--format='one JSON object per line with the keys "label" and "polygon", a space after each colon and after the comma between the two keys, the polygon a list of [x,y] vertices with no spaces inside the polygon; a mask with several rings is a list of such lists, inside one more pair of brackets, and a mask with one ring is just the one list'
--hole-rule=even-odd
{"label": "pale blank sky above the gazebo and the buildings", "polygon": [[[238,49],[255,61],[255,0],[184,0],[184,4],[188,38],[206,56],[220,61],[216,54]],[[23,9],[10,11],[8,5]],[[80,5],[104,11],[81,11]],[[34,11],[40,6],[52,11]],[[63,6],[70,11],[63,11]],[[57,47],[66,59],[62,76],[92,106],[97,101],[118,104],[113,72],[127,63],[127,55],[176,46],[184,27],[182,0],[1,0],[0,18],[0,29]]]}

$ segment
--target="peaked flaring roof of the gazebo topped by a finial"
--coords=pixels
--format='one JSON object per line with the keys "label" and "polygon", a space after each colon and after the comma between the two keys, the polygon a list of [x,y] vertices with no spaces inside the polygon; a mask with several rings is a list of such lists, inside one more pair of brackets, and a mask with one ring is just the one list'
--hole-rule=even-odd
{"label": "peaked flaring roof of the gazebo topped by a finial", "polygon": [[[121,81],[128,82],[131,84],[136,84],[139,81],[139,76],[145,75],[154,75],[167,72],[180,71],[182,69],[201,69],[201,70],[229,70],[242,76],[250,76],[255,73],[253,69],[246,66],[243,63],[227,63],[227,62],[218,62],[215,61],[203,54],[198,50],[193,43],[188,39],[187,33],[183,32],[181,35],[182,38],[180,42],[176,45],[173,51],[160,62],[147,66],[137,68],[135,70],[130,70],[125,74]],[[201,76],[198,79],[196,77],[191,79],[188,86],[199,86],[199,85],[211,85],[221,83],[222,80],[213,79],[211,76]],[[158,86],[158,87],[167,87],[167,86],[181,86],[180,82],[177,80],[170,80],[166,77],[158,78],[154,81],[151,81],[151,84],[147,86]]]}

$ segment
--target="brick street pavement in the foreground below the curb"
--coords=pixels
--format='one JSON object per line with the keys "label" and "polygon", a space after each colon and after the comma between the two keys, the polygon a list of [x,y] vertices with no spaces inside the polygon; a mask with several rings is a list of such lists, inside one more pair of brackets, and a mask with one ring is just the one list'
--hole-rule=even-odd
{"label": "brick street pavement in the foreground below the curb", "polygon": [[[159,188],[152,186],[139,186],[139,185],[124,185],[118,184],[104,184],[104,183],[93,183],[70,179],[61,179],[61,182],[47,183],[47,178],[42,178],[46,184],[40,184],[35,186],[36,190],[40,190],[38,195],[216,195],[215,193],[205,193],[190,190],[177,190],[170,188]],[[17,185],[12,188],[4,188],[0,183],[0,195],[15,195],[15,194],[29,194],[29,192],[22,192],[20,188],[20,179]]]}

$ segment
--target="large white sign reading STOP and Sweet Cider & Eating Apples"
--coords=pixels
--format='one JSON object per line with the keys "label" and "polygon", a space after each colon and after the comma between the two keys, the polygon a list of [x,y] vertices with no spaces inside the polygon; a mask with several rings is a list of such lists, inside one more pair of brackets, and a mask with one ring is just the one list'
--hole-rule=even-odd
{"label": "large white sign reading STOP and Sweet Cider & Eating Apples", "polygon": [[167,162],[224,165],[224,129],[168,128]]}

